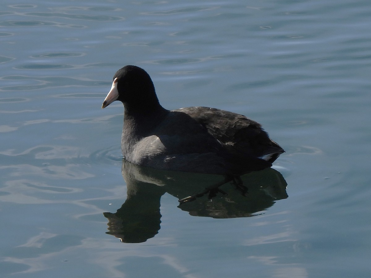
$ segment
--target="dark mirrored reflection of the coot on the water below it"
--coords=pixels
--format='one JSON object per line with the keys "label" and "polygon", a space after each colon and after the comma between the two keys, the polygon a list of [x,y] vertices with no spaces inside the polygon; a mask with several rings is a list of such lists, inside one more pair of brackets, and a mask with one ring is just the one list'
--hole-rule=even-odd
{"label": "dark mirrored reflection of the coot on the water below it", "polygon": [[[193,216],[213,218],[254,216],[276,200],[288,197],[285,179],[272,168],[241,176],[243,189],[236,182],[224,183],[226,178],[221,175],[164,171],[137,166],[125,159],[122,176],[127,184],[127,199],[116,213],[105,212],[104,216],[109,220],[107,234],[128,243],[144,242],[158,233],[160,199],[166,192],[178,199],[200,195],[191,198],[191,202],[180,203],[178,208]],[[211,193],[199,194],[206,191]]]}

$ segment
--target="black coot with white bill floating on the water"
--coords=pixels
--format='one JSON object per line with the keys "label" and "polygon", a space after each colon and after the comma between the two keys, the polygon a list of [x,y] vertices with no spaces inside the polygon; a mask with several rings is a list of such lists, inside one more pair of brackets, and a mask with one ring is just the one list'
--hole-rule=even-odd
{"label": "black coot with white bill floating on the water", "polygon": [[164,109],[151,77],[137,66],[116,72],[102,108],[115,100],[125,107],[122,154],[137,165],[242,175],[272,166],[285,152],[245,116],[209,107]]}

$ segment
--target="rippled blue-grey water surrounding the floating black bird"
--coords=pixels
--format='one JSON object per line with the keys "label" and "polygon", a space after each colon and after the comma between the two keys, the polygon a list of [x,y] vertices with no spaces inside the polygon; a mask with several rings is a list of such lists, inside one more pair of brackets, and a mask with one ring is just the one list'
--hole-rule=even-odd
{"label": "rippled blue-grey water surrounding the floating black bird", "polygon": [[[0,276],[368,277],[370,13],[346,0],[3,1]],[[130,169],[125,183],[122,105],[100,108],[125,64],[167,109],[262,123],[286,149],[274,169],[287,189],[264,180],[272,170],[243,177],[245,202],[224,186],[182,207],[185,186],[218,178]],[[119,216],[146,241],[122,243]]]}

